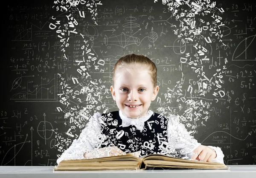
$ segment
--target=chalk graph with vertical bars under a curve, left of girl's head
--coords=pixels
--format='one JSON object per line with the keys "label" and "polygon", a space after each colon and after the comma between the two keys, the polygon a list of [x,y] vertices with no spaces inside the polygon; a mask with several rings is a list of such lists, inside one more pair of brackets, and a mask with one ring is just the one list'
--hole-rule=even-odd
{"label": "chalk graph with vertical bars under a curve, left of girl's head", "polygon": [[[34,81],[29,80],[23,82],[23,78],[34,77],[34,76],[20,76],[12,82],[12,90],[24,90],[13,94],[10,99],[16,101],[57,101],[57,77],[54,74],[53,79],[47,79],[41,77],[41,84],[34,84]],[[35,80],[36,81],[36,80]],[[44,82],[44,83],[43,83]],[[31,89],[32,88],[32,89]]]}

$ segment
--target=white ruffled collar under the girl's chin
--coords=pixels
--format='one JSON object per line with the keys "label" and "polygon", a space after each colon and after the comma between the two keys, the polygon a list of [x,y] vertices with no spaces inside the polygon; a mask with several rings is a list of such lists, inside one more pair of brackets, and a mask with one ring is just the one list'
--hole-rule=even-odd
{"label": "white ruffled collar under the girl's chin", "polygon": [[153,111],[148,110],[145,116],[141,116],[140,118],[131,118],[126,116],[124,113],[122,113],[121,110],[119,110],[119,116],[122,119],[122,127],[134,125],[137,127],[138,130],[143,130],[144,122],[147,121],[153,113]]}

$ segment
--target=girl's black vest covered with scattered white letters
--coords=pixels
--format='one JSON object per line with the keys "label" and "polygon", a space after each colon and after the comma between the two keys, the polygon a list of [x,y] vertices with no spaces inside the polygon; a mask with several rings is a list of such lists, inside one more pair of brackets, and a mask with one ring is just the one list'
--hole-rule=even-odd
{"label": "girl's black vest covered with scattered white letters", "polygon": [[166,148],[168,142],[168,119],[164,116],[153,113],[145,121],[142,131],[137,130],[134,125],[120,126],[122,125],[122,119],[119,116],[119,111],[103,113],[101,118],[105,122],[105,125],[102,124],[102,133],[107,137],[101,147],[116,146],[125,153],[141,150],[141,155],[163,154],[161,150]]}

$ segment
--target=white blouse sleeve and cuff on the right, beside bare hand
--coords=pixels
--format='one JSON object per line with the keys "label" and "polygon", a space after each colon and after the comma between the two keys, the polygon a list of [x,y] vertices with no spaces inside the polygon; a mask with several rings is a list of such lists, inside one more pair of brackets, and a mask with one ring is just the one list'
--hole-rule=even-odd
{"label": "white blouse sleeve and cuff on the right, beside bare hand", "polygon": [[[167,137],[169,147],[174,148],[177,152],[176,154],[184,159],[191,159],[193,155],[192,151],[201,145],[194,136],[190,135],[185,126],[180,123],[179,117],[175,115],[168,117]],[[224,154],[221,149],[219,147],[208,147],[215,150],[217,155],[212,162],[224,163]]]}

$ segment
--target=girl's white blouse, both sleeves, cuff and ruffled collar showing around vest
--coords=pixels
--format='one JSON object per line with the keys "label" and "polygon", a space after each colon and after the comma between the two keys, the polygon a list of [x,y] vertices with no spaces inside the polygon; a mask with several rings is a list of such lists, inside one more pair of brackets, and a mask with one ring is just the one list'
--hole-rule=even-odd
{"label": "girl's white blouse, both sleeves, cuff and ruffled collar showing around vest", "polygon": [[[141,126],[141,123],[147,121],[154,112],[148,110],[148,113],[145,116],[134,119],[125,116],[119,110],[119,116],[122,119],[122,127],[128,127],[130,124]],[[65,150],[61,157],[57,159],[57,164],[62,160],[70,159],[84,159],[84,153],[88,150],[93,150],[95,148],[100,148],[102,142],[106,139],[106,136],[101,133],[101,124],[104,122],[101,119],[102,114],[96,112],[89,119],[86,127],[82,130],[78,139],[74,139],[70,147]],[[185,126],[180,123],[178,116],[171,115],[168,117],[167,125],[167,137],[168,137],[168,148],[173,152],[178,152],[182,155],[182,158],[191,159],[196,147],[201,145],[198,141],[190,136],[189,132],[186,130]],[[144,126],[144,125],[143,125]],[[142,127],[143,128],[143,127]],[[140,127],[137,127],[140,130]],[[215,150],[217,157],[213,159],[212,162],[219,162],[224,164],[224,154],[219,147],[211,147]]]}

